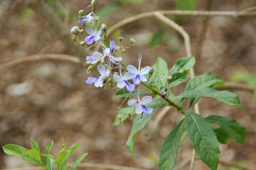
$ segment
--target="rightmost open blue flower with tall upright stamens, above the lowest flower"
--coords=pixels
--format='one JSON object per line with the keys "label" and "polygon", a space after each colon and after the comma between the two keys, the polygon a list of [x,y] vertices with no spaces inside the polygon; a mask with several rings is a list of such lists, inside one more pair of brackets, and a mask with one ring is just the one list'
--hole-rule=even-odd
{"label": "rightmost open blue flower with tall upright stamens, above the lowest flower", "polygon": [[135,85],[140,84],[141,81],[146,82],[146,77],[143,75],[148,74],[150,71],[149,66],[146,66],[145,68],[142,68],[140,70],[140,63],[141,63],[141,55],[139,55],[139,59],[138,59],[138,69],[133,65],[128,65],[127,66],[128,72],[126,72],[124,75],[128,80],[132,79]]}

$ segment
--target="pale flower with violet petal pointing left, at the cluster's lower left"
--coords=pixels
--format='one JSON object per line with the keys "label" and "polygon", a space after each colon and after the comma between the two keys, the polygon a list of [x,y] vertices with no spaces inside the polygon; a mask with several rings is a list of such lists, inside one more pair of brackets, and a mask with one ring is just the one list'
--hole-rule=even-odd
{"label": "pale flower with violet petal pointing left, at the cluster's lower left", "polygon": [[100,65],[97,66],[97,69],[101,76],[92,77],[89,76],[85,83],[92,85],[94,83],[95,87],[102,87],[103,81],[105,78],[107,78],[110,75],[110,69],[105,69],[104,67],[101,67]]}

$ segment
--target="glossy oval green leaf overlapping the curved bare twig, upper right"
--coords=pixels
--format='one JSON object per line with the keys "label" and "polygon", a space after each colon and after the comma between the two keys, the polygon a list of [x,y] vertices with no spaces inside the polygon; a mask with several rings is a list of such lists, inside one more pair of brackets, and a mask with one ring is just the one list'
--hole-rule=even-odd
{"label": "glossy oval green leaf overlapping the curved bare twig, upper right", "polygon": [[182,57],[176,61],[173,68],[171,68],[171,76],[174,73],[182,73],[185,70],[189,70],[195,65],[194,57]]}

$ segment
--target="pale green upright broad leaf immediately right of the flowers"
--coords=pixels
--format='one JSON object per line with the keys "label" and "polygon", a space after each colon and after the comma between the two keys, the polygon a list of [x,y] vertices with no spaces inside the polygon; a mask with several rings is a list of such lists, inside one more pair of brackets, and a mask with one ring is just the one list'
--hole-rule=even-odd
{"label": "pale green upright broad leaf immediately right of the flowers", "polygon": [[169,69],[165,60],[158,57],[156,63],[151,68],[154,69],[154,72],[148,83],[158,87],[165,87],[167,85],[167,76],[169,74]]}

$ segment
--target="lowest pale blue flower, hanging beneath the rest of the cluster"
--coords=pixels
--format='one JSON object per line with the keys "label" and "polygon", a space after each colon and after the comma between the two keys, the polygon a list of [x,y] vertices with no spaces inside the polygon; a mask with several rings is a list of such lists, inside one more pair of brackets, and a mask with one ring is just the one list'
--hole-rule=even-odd
{"label": "lowest pale blue flower, hanging beneath the rest of the cluster", "polygon": [[151,96],[145,96],[142,98],[142,100],[140,101],[139,98],[138,100],[135,99],[130,99],[128,101],[128,105],[129,106],[135,106],[135,112],[137,114],[141,114],[141,113],[145,113],[146,115],[149,115],[152,113],[153,108],[148,108],[145,106],[145,104],[148,104],[152,102],[152,97]]}

